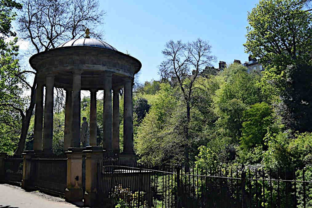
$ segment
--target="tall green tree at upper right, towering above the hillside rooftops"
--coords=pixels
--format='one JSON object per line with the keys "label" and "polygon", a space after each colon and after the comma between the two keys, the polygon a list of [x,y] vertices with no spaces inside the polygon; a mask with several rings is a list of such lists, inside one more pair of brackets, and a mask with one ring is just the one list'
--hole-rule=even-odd
{"label": "tall green tree at upper right, towering above the hillside rooftops", "polygon": [[[275,111],[286,128],[311,131],[312,14],[305,1],[263,0],[248,14],[246,52],[266,65],[261,88],[279,98]],[[276,100],[276,99],[275,99]]]}

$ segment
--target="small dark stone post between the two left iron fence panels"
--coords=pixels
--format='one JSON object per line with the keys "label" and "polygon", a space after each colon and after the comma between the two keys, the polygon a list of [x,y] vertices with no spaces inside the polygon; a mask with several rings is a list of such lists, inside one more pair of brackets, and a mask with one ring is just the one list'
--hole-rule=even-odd
{"label": "small dark stone post between the two left iron fence panels", "polygon": [[31,177],[31,166],[32,166],[32,157],[34,156],[33,150],[25,150],[22,153],[23,156],[23,178],[22,178],[22,188],[31,191],[33,189],[32,177]]}

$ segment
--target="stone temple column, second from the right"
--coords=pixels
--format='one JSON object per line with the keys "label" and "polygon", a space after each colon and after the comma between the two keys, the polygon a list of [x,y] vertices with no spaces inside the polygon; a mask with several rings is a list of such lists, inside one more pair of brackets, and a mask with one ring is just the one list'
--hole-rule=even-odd
{"label": "stone temple column, second from the right", "polygon": [[113,89],[113,152],[119,154],[119,89]]}

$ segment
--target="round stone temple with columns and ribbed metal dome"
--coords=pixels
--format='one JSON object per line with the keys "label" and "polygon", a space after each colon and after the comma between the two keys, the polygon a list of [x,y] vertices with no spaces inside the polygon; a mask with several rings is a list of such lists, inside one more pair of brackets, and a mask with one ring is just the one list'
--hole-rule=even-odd
{"label": "round stone temple with columns and ribbed metal dome", "polygon": [[57,87],[66,91],[64,150],[80,147],[80,90],[90,91],[90,146],[96,146],[96,92],[104,90],[103,150],[108,156],[119,153],[119,89],[124,88],[124,150],[119,159],[133,160],[132,85],[142,64],[86,34],[29,60],[37,71],[34,151],[52,152],[53,89]]}

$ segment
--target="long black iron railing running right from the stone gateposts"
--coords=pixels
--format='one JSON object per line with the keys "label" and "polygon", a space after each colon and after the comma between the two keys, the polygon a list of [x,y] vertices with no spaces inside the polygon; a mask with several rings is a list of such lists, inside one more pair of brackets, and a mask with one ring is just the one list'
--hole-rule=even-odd
{"label": "long black iron railing running right from the stone gateposts", "polygon": [[312,169],[98,163],[103,207],[312,207]]}

